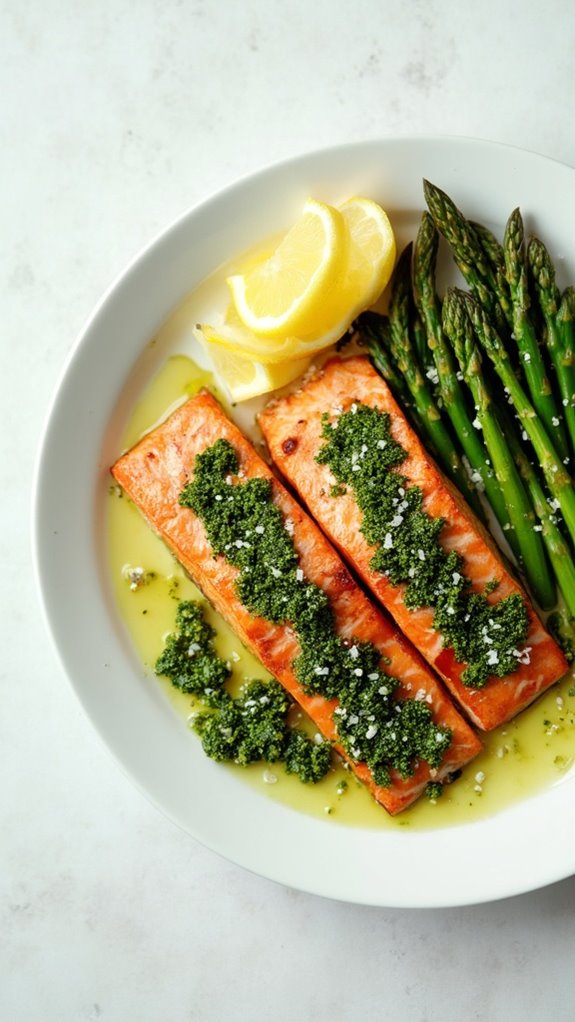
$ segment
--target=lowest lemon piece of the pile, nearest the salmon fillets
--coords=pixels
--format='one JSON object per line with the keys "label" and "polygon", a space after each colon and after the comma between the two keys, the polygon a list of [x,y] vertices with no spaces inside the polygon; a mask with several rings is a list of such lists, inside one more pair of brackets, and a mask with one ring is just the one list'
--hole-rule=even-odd
{"label": "lowest lemon piece of the pile, nearest the salmon fillets", "polygon": [[203,331],[196,328],[196,337],[207,349],[214,372],[235,402],[249,401],[291,383],[307,369],[309,359],[290,360],[278,365],[262,365],[253,359],[236,355],[226,347],[209,343]]}

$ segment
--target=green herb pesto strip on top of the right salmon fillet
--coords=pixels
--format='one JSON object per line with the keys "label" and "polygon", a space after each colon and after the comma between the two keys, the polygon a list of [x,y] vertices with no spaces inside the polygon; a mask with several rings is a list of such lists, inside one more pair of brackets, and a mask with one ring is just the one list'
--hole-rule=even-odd
{"label": "green herb pesto strip on top of the right salmon fillet", "polygon": [[525,601],[513,594],[489,603],[496,579],[484,593],[472,591],[461,554],[441,546],[443,519],[423,510],[421,487],[398,471],[408,455],[391,435],[389,415],[352,404],[334,423],[324,416],[323,436],[317,461],[329,465],[337,480],[334,497],[342,487],[352,491],[362,532],[376,548],[371,567],[392,586],[404,584],[406,607],[433,609],[443,645],[467,664],[464,684],[482,688],[490,676],[504,678],[528,663],[529,650],[521,648],[529,628]]}

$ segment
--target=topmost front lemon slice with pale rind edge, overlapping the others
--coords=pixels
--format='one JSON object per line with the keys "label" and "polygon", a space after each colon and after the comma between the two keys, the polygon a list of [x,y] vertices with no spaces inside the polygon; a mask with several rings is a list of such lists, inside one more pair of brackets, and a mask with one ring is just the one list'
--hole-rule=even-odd
{"label": "topmost front lemon slice with pale rind edge, overlapping the others", "polygon": [[346,258],[342,215],[309,199],[270,259],[228,278],[244,324],[262,337],[309,334],[323,328],[323,303]]}

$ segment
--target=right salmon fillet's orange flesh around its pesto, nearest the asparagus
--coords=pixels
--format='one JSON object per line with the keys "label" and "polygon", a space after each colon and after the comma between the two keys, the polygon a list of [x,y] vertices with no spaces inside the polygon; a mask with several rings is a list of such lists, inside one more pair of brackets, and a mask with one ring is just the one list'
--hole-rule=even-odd
{"label": "right salmon fillet's orange flesh around its pesto, nearest the asparagus", "polygon": [[[401,474],[421,487],[424,510],[434,518],[444,519],[441,545],[463,556],[472,589],[482,592],[490,579],[496,578],[499,585],[488,597],[491,603],[513,593],[524,598],[529,617],[525,642],[525,647],[530,647],[529,663],[520,665],[512,675],[490,677],[481,689],[466,687],[462,682],[466,664],[456,660],[452,649],[443,647],[440,633],[433,629],[432,609],[408,609],[403,602],[405,586],[391,585],[385,574],[370,567],[376,547],[370,546],[362,533],[363,515],[352,492],[348,487],[347,493],[334,499],[330,492],[335,480],[330,468],[316,461],[324,445],[322,414],[340,414],[353,402],[389,413],[391,434],[408,454],[400,466]],[[427,454],[368,358],[331,360],[296,393],[272,401],[259,416],[259,425],[283,476],[401,632],[443,678],[474,724],[485,731],[497,727],[565,675],[567,661],[525,592],[505,567],[483,526]]]}

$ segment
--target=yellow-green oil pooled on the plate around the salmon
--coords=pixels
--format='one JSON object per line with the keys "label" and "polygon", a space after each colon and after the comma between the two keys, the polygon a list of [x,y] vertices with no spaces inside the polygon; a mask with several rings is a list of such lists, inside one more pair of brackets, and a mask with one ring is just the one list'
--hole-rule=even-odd
{"label": "yellow-green oil pooled on the plate around the salmon", "polygon": [[[215,390],[210,374],[185,356],[167,359],[131,415],[122,448],[131,447],[152,425],[201,386]],[[151,531],[136,507],[110,486],[108,508],[109,565],[119,614],[146,669],[153,665],[166,634],[174,629],[177,601],[202,599],[196,587]],[[130,568],[141,567],[151,575],[132,589]],[[204,601],[205,602],[205,601]],[[246,678],[267,679],[259,661],[234,636],[224,619],[206,604],[207,618],[217,631],[215,646],[230,661],[232,686]],[[302,812],[353,827],[430,829],[470,823],[502,811],[513,802],[561,783],[573,769],[575,754],[574,683],[562,683],[511,724],[484,736],[484,751],[464,771],[435,803],[422,798],[399,817],[391,819],[377,805],[350,771],[337,765],[317,785],[304,785],[278,764],[248,768],[223,765],[241,773],[246,784],[262,797],[273,798]],[[188,718],[193,705],[165,679],[157,679],[175,711]],[[298,710],[294,715],[300,715]],[[301,719],[301,726],[313,727]],[[199,739],[190,732],[190,741]]]}

